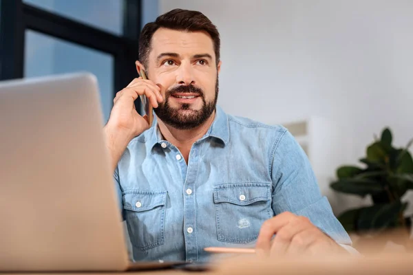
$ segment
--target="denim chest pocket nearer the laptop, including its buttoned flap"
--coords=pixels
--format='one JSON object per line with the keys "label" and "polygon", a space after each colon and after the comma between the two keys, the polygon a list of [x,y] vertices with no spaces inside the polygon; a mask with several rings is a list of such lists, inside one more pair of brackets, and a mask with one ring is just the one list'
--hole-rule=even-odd
{"label": "denim chest pocket nearer the laptop, including its buttoned flap", "polygon": [[167,191],[123,192],[123,209],[131,244],[145,251],[165,243]]}

